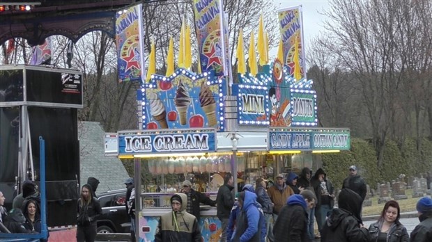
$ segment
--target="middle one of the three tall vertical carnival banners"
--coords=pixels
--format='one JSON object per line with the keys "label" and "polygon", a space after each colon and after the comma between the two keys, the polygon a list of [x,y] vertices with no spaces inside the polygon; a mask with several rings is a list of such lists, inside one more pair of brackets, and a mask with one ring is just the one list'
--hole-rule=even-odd
{"label": "middle one of the three tall vertical carnival banners", "polygon": [[228,72],[225,64],[224,21],[221,0],[194,0],[195,23],[201,71],[213,70],[216,76]]}

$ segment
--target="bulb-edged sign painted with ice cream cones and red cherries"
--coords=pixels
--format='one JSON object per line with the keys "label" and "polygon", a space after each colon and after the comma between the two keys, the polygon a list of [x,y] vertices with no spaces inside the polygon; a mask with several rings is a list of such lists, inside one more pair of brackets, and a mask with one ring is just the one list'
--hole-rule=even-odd
{"label": "bulb-edged sign painted with ice cream cones and red cherries", "polygon": [[155,74],[137,94],[143,129],[223,131],[225,82],[213,72],[194,74],[182,68],[171,76]]}

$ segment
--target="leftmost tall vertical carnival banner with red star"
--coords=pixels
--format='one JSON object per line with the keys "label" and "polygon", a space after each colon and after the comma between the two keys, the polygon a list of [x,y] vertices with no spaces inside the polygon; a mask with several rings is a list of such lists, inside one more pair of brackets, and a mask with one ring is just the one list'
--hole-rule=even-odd
{"label": "leftmost tall vertical carnival banner with red star", "polygon": [[146,80],[142,4],[116,13],[118,81]]}

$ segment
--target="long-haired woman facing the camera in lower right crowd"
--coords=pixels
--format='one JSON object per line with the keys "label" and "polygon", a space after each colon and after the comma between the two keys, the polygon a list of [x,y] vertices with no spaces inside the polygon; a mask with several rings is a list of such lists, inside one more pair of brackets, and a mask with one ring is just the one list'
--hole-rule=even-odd
{"label": "long-haired woman facing the camera in lower right crowd", "polygon": [[390,200],[385,203],[381,216],[376,223],[369,226],[370,242],[409,242],[410,236],[400,222],[399,203]]}

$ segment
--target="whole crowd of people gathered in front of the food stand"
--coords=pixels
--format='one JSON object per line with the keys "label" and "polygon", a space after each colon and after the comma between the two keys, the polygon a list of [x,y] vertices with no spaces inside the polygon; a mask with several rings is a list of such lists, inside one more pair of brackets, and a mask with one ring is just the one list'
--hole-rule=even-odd
{"label": "whole crowd of people gathered in front of the food stand", "polygon": [[[300,176],[290,172],[279,174],[274,185],[256,179],[255,186],[246,184],[233,194],[233,176],[226,174],[215,201],[192,189],[192,183],[183,182],[183,189],[171,197],[171,209],[160,218],[155,241],[201,242],[199,204],[217,207],[222,224],[222,242],[314,241],[323,242],[430,242],[432,241],[432,199],[422,197],[416,209],[420,223],[408,234],[399,218],[398,202],[387,202],[380,218],[369,228],[362,221],[362,202],[366,196],[364,179],[357,168],[350,166],[350,175],[334,207],[334,187],[322,168],[314,175],[303,168]],[[93,178],[93,177],[91,177]],[[88,179],[81,188],[77,206],[77,241],[94,241],[96,218],[102,209],[96,198],[97,179]],[[131,219],[131,239],[134,241],[134,179],[125,180],[127,188],[126,211]],[[40,233],[40,197],[33,181],[24,181],[22,193],[13,201],[13,209],[3,207],[5,197],[0,191],[1,233]],[[314,234],[314,219],[318,234]],[[40,241],[47,241],[41,239]]]}

